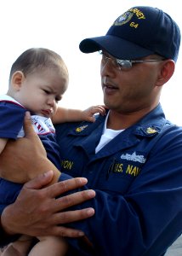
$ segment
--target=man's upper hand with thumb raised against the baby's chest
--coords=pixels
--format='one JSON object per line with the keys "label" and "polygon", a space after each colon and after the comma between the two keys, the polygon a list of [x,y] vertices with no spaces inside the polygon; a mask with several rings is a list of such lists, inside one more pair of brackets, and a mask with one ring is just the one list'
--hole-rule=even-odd
{"label": "man's upper hand with thumb raised against the baby's chest", "polygon": [[0,154],[0,177],[15,183],[26,183],[38,174],[54,171],[54,180],[60,176],[57,168],[47,159],[43,143],[33,130],[30,113],[26,113],[25,137],[9,141]]}

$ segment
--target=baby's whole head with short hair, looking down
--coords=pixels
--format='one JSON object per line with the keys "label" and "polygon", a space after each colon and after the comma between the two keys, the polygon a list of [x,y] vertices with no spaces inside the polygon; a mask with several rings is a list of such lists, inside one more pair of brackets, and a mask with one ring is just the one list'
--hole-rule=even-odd
{"label": "baby's whole head with short hair, looking down", "polygon": [[33,113],[51,116],[69,81],[60,55],[50,49],[31,48],[11,67],[8,95]]}

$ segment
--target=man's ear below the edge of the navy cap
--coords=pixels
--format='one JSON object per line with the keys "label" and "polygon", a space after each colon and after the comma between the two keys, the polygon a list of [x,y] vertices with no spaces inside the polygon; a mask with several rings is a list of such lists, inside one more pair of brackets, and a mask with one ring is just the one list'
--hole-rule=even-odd
{"label": "man's ear below the edge of the navy cap", "polygon": [[166,84],[168,80],[173,76],[175,69],[175,62],[173,60],[162,61],[161,70],[157,80],[157,86]]}

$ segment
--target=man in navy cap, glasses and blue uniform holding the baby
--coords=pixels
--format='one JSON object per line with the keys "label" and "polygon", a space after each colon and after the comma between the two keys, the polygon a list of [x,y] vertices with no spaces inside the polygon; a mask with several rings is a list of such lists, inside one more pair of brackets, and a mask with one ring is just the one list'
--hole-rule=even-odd
{"label": "man in navy cap, glasses and blue uniform holding the baby", "polygon": [[[81,42],[82,52],[101,50],[101,84],[109,110],[94,124],[57,126],[61,171],[87,177],[88,188],[96,192],[93,200],[82,204],[94,208],[94,216],[70,224],[87,235],[93,249],[82,247],[79,239],[68,239],[72,255],[162,256],[181,234],[182,129],[165,119],[159,103],[163,84],[173,76],[179,44],[179,27],[172,18],[146,6],[128,9],[105,36]],[[34,194],[43,194],[47,209],[45,190],[39,188]],[[54,185],[52,189],[56,190]],[[27,194],[31,191],[21,193],[22,204],[27,204]],[[4,210],[3,229],[8,234],[37,236],[33,221],[29,219],[25,228],[17,218],[22,209],[15,202]],[[38,204],[33,207],[34,218],[40,209]],[[12,212],[16,217],[10,220]],[[26,215],[21,213],[21,218]],[[44,231],[48,216],[54,216],[51,207],[45,216],[46,224],[37,221]],[[54,224],[49,233],[54,232]]]}

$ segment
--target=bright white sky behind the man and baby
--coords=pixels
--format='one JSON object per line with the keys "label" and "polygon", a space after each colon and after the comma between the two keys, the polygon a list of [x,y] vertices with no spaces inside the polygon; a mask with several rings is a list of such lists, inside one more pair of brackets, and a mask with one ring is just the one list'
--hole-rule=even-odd
{"label": "bright white sky behind the man and baby", "polygon": [[[182,32],[179,0],[6,0],[0,2],[0,94],[6,93],[9,71],[26,49],[43,47],[56,51],[68,67],[70,83],[60,106],[88,108],[103,104],[100,55],[83,54],[84,38],[103,36],[114,20],[131,7],[148,5],[162,9]],[[182,46],[172,79],[163,86],[161,103],[168,119],[182,125]]]}

